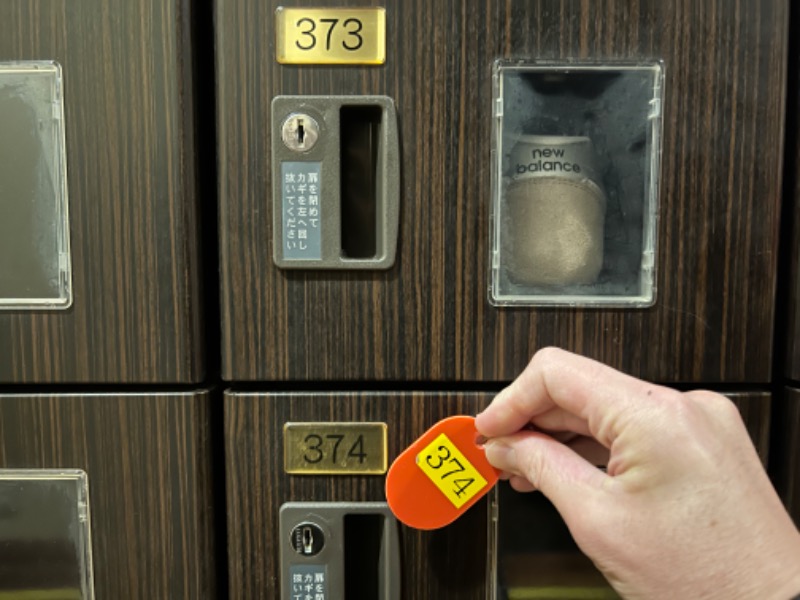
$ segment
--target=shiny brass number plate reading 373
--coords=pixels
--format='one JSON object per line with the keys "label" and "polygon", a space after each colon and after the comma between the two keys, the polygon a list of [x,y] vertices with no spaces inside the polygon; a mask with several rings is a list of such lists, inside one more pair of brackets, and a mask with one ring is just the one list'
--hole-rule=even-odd
{"label": "shiny brass number plate reading 373", "polygon": [[382,65],[383,8],[284,8],[275,11],[275,52],[291,65]]}

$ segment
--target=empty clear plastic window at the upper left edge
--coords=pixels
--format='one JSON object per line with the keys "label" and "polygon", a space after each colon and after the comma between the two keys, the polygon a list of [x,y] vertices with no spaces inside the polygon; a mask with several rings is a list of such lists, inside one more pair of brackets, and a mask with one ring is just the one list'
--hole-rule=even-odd
{"label": "empty clear plastic window at the upper left edge", "polygon": [[72,303],[61,68],[0,62],[0,310]]}

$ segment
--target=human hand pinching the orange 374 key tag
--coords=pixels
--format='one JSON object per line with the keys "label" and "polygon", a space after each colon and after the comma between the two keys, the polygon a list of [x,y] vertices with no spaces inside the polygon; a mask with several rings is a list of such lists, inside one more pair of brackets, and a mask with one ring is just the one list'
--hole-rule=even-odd
{"label": "human hand pinching the orange 374 key tag", "polygon": [[541,490],[624,597],[800,593],[800,533],[724,396],[548,348],[476,427],[489,462],[515,489]]}

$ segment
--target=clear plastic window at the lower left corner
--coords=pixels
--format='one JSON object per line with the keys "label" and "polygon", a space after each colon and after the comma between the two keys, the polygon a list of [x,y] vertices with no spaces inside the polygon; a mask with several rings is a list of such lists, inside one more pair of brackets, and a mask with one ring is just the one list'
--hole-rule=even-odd
{"label": "clear plastic window at the lower left corner", "polygon": [[86,473],[0,469],[0,598],[93,600]]}

